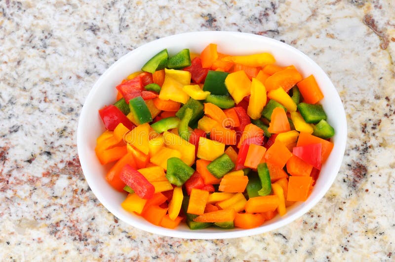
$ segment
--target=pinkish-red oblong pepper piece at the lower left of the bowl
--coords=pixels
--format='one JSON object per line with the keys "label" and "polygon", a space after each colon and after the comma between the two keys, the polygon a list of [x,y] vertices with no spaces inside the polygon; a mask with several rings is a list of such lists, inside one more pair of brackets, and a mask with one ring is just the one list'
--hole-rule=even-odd
{"label": "pinkish-red oblong pepper piece at the lower left of the bowl", "polygon": [[128,185],[141,198],[150,199],[154,196],[155,187],[148,182],[139,171],[126,164],[119,175],[120,179]]}

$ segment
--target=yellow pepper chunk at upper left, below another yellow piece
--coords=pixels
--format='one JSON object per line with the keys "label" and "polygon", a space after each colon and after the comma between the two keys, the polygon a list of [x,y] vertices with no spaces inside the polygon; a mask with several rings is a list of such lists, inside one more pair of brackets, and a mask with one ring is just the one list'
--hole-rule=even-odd
{"label": "yellow pepper chunk at upper left, below another yellow piece", "polygon": [[184,86],[185,84],[178,82],[173,77],[165,75],[162,88],[160,89],[159,98],[185,104],[188,101],[189,96],[182,90]]}

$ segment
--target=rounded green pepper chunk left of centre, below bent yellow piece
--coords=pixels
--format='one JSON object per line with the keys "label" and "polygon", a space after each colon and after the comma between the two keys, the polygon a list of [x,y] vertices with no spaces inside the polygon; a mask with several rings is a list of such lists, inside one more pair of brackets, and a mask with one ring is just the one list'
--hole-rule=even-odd
{"label": "rounded green pepper chunk left of centre, below bent yellow piece", "polygon": [[188,164],[185,164],[179,158],[169,158],[167,160],[166,178],[169,182],[177,187],[184,185],[195,170]]}

